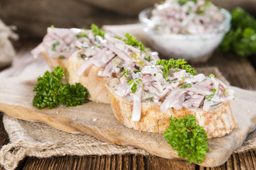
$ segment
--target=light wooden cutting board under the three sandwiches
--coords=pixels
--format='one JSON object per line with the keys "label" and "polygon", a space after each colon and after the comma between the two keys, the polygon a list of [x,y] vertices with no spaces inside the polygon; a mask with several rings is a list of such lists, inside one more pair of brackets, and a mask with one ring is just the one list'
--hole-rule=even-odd
{"label": "light wooden cutting board under the three sandwiches", "polygon": [[[1,73],[0,111],[15,118],[47,123],[66,132],[83,132],[114,145],[133,146],[159,157],[180,159],[161,134],[132,130],[120,124],[114,118],[110,105],[86,101],[82,106],[70,108],[34,108],[33,86],[37,77],[46,69],[48,67],[45,62],[38,59],[31,60],[26,67],[16,69],[16,72],[7,70],[5,77]],[[201,69],[201,72],[209,71],[215,75],[219,74],[218,69]],[[210,152],[206,154],[201,166],[219,166],[225,163],[230,154],[242,145],[247,134],[255,129],[256,112],[252,108],[255,108],[256,92],[232,88],[236,91],[236,99],[232,101],[231,106],[238,121],[238,128],[225,137],[208,140]]]}

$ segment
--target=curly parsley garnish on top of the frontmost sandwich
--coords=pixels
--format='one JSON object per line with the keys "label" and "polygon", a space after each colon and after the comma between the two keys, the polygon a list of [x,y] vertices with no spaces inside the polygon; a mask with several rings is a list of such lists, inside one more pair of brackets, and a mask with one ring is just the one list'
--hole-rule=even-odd
{"label": "curly parsley garnish on top of the frontmost sandwich", "polygon": [[168,76],[170,75],[170,70],[171,69],[175,69],[176,72],[178,72],[178,69],[185,69],[186,72],[195,75],[196,71],[195,69],[193,69],[193,67],[191,67],[191,65],[186,64],[187,62],[184,59],[178,59],[178,60],[174,60],[174,59],[170,59],[170,60],[158,60],[156,61],[156,65],[161,65],[164,67],[164,69],[162,69],[164,78],[166,80],[168,80]]}

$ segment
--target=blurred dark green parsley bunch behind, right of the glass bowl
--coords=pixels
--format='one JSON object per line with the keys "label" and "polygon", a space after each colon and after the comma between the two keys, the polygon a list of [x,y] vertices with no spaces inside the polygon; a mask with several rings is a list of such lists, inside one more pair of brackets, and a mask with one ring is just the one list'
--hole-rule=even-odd
{"label": "blurred dark green parsley bunch behind, right of the glass bowl", "polygon": [[225,35],[218,50],[234,52],[241,57],[255,56],[256,54],[256,19],[242,8],[232,11],[232,28]]}

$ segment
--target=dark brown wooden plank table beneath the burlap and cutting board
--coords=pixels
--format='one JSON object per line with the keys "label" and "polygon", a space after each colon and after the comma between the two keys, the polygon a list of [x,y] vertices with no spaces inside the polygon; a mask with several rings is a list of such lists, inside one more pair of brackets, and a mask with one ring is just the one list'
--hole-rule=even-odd
{"label": "dark brown wooden plank table beneath the burlap and cutting board", "polygon": [[[18,43],[16,45],[17,57],[22,59],[23,55],[37,44],[38,42]],[[208,62],[190,64],[193,67],[218,67],[231,85],[242,89],[256,90],[256,57],[242,58],[233,54],[215,52]],[[3,70],[0,69],[0,71]],[[9,137],[2,123],[2,116],[3,113],[0,113],[0,146],[9,142]],[[4,168],[0,167],[1,169]],[[64,156],[45,159],[26,157],[20,162],[17,169],[256,169],[256,149],[240,154],[232,154],[228,162],[215,168],[204,168],[195,164],[189,165],[187,162],[180,160],[169,160],[153,156],[118,154],[86,157]]]}

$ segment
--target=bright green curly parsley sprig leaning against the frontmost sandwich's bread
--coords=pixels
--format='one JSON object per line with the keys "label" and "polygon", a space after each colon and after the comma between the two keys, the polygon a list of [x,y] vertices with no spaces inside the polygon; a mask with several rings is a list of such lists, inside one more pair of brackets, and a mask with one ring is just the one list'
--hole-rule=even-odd
{"label": "bright green curly parsley sprig leaning against the frontmost sandwich's bread", "polygon": [[169,128],[164,132],[167,143],[178,151],[179,157],[186,157],[190,163],[202,163],[209,151],[206,130],[196,125],[193,115],[186,115],[181,120],[171,117],[170,120]]}

